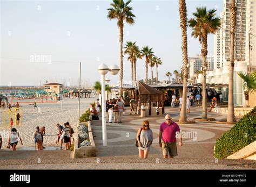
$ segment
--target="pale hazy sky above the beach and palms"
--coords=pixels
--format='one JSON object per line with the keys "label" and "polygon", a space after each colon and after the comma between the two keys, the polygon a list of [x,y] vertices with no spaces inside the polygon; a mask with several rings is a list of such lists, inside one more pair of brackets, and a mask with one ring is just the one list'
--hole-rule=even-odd
{"label": "pale hazy sky above the beach and palms", "polygon": [[[0,85],[42,85],[58,81],[78,85],[79,62],[82,86],[100,80],[100,63],[119,66],[119,28],[117,20],[107,19],[112,1],[8,1],[0,0]],[[223,0],[187,0],[187,18],[198,6],[223,10]],[[158,80],[167,71],[182,66],[179,1],[142,1],[130,3],[136,15],[133,25],[124,24],[124,44],[136,41],[153,48],[163,65]],[[188,57],[200,54],[198,39],[188,34]],[[208,55],[213,55],[214,36],[208,36]],[[124,55],[124,83],[131,81],[131,63]],[[145,79],[145,58],[137,61],[137,78]],[[148,77],[151,78],[149,68]],[[156,77],[156,68],[153,69]],[[119,74],[107,74],[110,84]],[[174,76],[172,76],[174,77]]]}

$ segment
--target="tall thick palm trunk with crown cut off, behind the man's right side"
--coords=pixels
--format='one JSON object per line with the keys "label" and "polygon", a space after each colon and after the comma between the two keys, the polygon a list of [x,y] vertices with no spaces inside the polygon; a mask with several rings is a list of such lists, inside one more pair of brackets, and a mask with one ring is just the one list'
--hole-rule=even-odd
{"label": "tall thick palm trunk with crown cut off, behind the man's right side", "polygon": [[179,0],[179,16],[180,16],[180,27],[181,27],[181,49],[183,55],[183,70],[184,70],[184,81],[183,81],[183,94],[182,94],[182,104],[181,112],[179,117],[179,122],[187,121],[186,105],[187,105],[187,8],[186,0]]}

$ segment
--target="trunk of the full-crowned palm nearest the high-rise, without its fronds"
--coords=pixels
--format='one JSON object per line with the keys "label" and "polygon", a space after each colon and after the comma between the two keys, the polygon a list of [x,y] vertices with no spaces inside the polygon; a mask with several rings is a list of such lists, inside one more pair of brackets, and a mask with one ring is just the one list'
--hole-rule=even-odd
{"label": "trunk of the full-crowned palm nearest the high-rise, without its fronds", "polygon": [[201,55],[203,57],[203,92],[202,92],[202,97],[203,97],[203,114],[202,114],[202,119],[207,119],[207,97],[206,97],[206,56],[207,56],[207,31],[203,28],[203,44],[202,44],[202,49],[201,49]]}

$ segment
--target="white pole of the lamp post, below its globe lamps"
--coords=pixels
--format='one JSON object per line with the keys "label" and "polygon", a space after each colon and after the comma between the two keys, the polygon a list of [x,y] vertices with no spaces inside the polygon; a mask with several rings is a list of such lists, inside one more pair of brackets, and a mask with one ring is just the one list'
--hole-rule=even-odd
{"label": "white pole of the lamp post, below its globe lamps", "polygon": [[106,100],[105,100],[105,75],[102,75],[102,141],[103,146],[107,145],[106,141]]}

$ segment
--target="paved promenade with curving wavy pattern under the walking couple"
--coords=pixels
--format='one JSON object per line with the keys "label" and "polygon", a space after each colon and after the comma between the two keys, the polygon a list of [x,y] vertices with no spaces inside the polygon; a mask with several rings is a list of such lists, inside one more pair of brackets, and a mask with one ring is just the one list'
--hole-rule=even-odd
{"label": "paved promenade with curving wavy pattern under the walking couple", "polygon": [[[192,107],[188,119],[200,117],[201,107]],[[179,120],[178,108],[166,107],[174,121]],[[208,113],[208,117],[218,120],[223,114]],[[153,131],[153,145],[148,159],[139,159],[134,141],[143,120],[150,121]],[[182,147],[178,146],[178,156],[163,159],[158,146],[158,131],[162,117],[140,118],[126,111],[123,123],[107,123],[107,147],[102,146],[102,121],[92,122],[97,156],[87,159],[70,159],[70,152],[64,150],[43,150],[39,152],[10,152],[0,150],[0,169],[256,169],[252,160],[214,159],[215,141],[233,125],[215,122],[179,124],[184,135]],[[38,159],[40,163],[38,163]]]}

